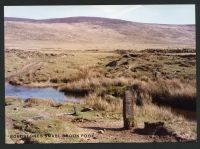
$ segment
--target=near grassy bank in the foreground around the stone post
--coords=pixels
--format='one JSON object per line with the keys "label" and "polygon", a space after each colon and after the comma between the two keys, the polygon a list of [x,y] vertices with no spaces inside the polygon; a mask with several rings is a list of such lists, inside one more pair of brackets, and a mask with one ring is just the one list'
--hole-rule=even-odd
{"label": "near grassy bank in the foreground around the stone post", "polygon": [[[74,107],[76,113],[74,113]],[[132,130],[122,129],[121,108],[116,111],[104,111],[92,109],[86,103],[58,104],[45,99],[23,101],[15,97],[6,97],[5,108],[6,137],[10,138],[9,136],[11,136],[10,139],[13,143],[180,141],[169,134],[164,136],[140,134],[137,130],[142,130],[146,121],[164,122],[170,131],[186,138],[185,141],[195,140],[197,137],[196,121],[189,121],[184,117],[174,115],[169,109],[160,109],[151,104],[145,105],[143,108],[134,107],[136,125]],[[68,137],[63,137],[63,134],[65,136],[68,134]],[[69,137],[73,134],[76,136]],[[85,136],[81,136],[81,134]],[[28,137],[20,138],[16,135]],[[6,141],[11,143],[8,139]]]}

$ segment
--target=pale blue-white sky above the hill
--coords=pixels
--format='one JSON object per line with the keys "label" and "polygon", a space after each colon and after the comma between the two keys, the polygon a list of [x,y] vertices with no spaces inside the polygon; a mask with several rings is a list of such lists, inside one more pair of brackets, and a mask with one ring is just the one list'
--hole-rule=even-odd
{"label": "pale blue-white sky above the hill", "polygon": [[195,5],[5,6],[4,16],[30,19],[91,16],[142,23],[195,24]]}

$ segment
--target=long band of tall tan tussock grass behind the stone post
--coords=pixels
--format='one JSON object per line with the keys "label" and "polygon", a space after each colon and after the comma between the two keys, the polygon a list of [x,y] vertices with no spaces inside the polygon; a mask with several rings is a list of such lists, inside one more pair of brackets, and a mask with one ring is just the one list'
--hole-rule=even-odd
{"label": "long band of tall tan tussock grass behind the stone post", "polygon": [[73,81],[62,86],[60,90],[68,93],[95,93],[98,96],[114,95],[123,98],[124,91],[129,88],[135,93],[136,102],[140,100],[142,103],[153,102],[193,111],[196,109],[195,81],[161,78],[150,80],[146,77],[140,79],[99,77]]}

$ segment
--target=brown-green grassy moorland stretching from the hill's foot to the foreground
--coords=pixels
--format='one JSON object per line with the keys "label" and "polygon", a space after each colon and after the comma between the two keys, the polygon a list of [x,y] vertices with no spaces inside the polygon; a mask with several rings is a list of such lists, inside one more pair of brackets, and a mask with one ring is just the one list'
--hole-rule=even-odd
{"label": "brown-green grassy moorland stretching from the hill's foot to the foreground", "polygon": [[[196,121],[173,112],[173,108],[196,110],[196,54],[193,49],[134,52],[7,49],[5,60],[6,80],[13,85],[53,86],[66,94],[85,98],[84,103],[58,104],[7,97],[9,134],[95,134],[89,139],[28,138],[32,143],[177,141],[173,137],[141,136],[121,130],[122,99],[124,91],[130,89],[135,93],[136,128],[142,128],[146,121],[163,121],[173,132],[196,139]],[[74,106],[78,113],[69,114]],[[81,112],[84,108],[93,110]]]}

